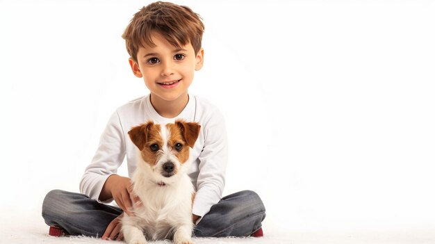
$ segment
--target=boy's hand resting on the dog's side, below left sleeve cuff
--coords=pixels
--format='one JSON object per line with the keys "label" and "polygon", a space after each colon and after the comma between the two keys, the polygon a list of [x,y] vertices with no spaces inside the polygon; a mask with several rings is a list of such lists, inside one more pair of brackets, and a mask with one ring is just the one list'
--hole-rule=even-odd
{"label": "boy's hand resting on the dog's side, below left sleeve cuff", "polygon": [[127,215],[131,215],[133,203],[140,202],[139,197],[134,195],[132,191],[133,184],[131,184],[130,178],[112,174],[104,183],[99,199],[104,201],[113,197],[113,200],[120,206],[122,211]]}

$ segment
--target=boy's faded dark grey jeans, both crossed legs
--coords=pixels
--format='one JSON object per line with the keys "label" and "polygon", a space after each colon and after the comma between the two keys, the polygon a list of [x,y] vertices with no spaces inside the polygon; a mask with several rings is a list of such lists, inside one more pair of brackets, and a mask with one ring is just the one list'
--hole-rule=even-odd
{"label": "boy's faded dark grey jeans, both crossed legs", "polygon": [[[50,226],[65,229],[71,235],[101,237],[108,224],[122,210],[90,199],[79,193],[51,190],[42,204],[42,217]],[[249,236],[261,228],[265,208],[260,197],[243,190],[222,198],[195,226],[194,236]]]}

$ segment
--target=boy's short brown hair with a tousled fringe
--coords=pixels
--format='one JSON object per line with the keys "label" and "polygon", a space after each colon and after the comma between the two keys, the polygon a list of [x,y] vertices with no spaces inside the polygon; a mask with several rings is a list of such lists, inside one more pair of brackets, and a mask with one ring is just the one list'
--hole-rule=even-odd
{"label": "boy's short brown hair with a tousled fringe", "polygon": [[131,59],[138,62],[138,49],[147,44],[155,47],[151,33],[163,35],[174,47],[192,44],[195,54],[201,49],[204,24],[201,17],[186,6],[157,1],[143,7],[133,16],[122,38],[125,40]]}

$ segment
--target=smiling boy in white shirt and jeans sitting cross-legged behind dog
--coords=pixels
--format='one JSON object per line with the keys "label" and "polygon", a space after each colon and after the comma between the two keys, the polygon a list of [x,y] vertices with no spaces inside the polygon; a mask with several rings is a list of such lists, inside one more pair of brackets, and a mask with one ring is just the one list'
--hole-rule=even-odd
{"label": "smiling boy in white shirt and jeans sitting cross-legged behind dog", "polygon": [[[133,74],[143,79],[150,94],[121,106],[101,135],[99,147],[81,179],[81,193],[52,190],[45,197],[42,216],[49,234],[101,236],[122,239],[120,215],[136,200],[131,181],[116,174],[126,157],[129,176],[136,169],[134,145],[127,132],[147,120],[158,124],[181,118],[202,128],[192,149],[195,158],[188,174],[197,190],[192,206],[194,235],[262,236],[263,203],[245,190],[222,197],[227,165],[224,120],[215,106],[188,94],[196,70],[202,68],[204,24],[186,6],[156,2],[131,19],[122,38]],[[120,208],[107,205],[115,200]]]}

